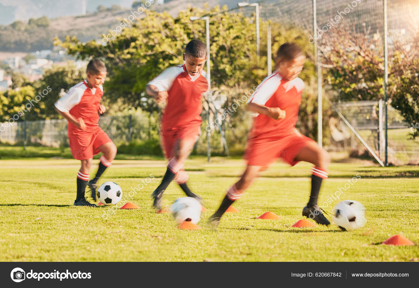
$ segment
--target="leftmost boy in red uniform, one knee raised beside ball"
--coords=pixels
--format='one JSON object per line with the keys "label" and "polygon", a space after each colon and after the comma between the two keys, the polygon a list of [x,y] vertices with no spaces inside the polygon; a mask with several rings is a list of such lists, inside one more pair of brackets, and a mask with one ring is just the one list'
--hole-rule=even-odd
{"label": "leftmost boy in red uniform, one knee raised beside ball", "polygon": [[[81,161],[77,173],[77,196],[75,206],[96,207],[84,197],[89,185],[93,201],[96,201],[96,183],[102,173],[112,164],[116,146],[99,127],[99,114],[105,112],[101,105],[102,84],[106,78],[106,67],[98,59],[87,65],[87,79],[71,87],[67,94],[58,99],[55,108],[68,121],[68,139],[73,158]],[[102,152],[96,176],[89,181],[93,156]]]}

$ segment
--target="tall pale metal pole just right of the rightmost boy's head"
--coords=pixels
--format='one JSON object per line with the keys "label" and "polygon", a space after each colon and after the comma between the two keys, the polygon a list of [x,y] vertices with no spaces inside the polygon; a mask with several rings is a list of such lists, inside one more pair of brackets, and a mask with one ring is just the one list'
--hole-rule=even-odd
{"label": "tall pale metal pole just right of the rightmost boy's head", "polygon": [[[316,34],[317,30],[317,8],[316,0],[313,0],[313,35]],[[323,104],[322,104],[322,88],[321,88],[321,67],[320,67],[320,55],[317,49],[317,40],[314,38],[314,59],[317,66],[317,139],[318,146],[323,147]]]}

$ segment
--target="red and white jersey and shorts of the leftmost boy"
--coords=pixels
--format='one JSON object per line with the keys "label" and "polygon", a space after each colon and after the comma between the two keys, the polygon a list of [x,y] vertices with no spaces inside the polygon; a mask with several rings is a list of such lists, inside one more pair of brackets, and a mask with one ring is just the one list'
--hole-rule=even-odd
{"label": "red and white jersey and shorts of the leftmost boy", "polygon": [[103,87],[90,89],[87,81],[83,80],[71,87],[67,94],[55,103],[59,111],[68,112],[74,118],[82,118],[86,124],[83,131],[72,123],[68,123],[68,138],[72,155],[75,159],[91,159],[100,151],[97,149],[102,144],[111,142],[109,136],[99,127],[99,107]]}

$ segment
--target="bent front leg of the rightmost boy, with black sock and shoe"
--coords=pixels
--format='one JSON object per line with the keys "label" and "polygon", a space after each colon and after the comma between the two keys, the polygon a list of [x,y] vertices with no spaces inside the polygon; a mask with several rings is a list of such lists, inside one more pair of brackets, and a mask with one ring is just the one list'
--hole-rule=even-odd
{"label": "bent front leg of the rightmost boy, with black sock and shoe", "polygon": [[320,148],[316,142],[308,142],[306,147],[297,154],[295,161],[309,162],[314,165],[311,170],[310,199],[303,209],[303,216],[316,220],[318,224],[330,224],[317,205],[322,180],[328,177],[329,154],[326,150]]}

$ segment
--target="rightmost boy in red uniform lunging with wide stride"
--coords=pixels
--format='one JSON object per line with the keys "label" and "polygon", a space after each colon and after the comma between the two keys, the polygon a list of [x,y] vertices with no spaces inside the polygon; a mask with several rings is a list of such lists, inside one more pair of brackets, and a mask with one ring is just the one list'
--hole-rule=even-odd
{"label": "rightmost boy in red uniform lunging with wide stride", "polygon": [[255,114],[243,157],[247,167],[241,179],[228,190],[220,208],[209,218],[214,227],[259,172],[278,158],[291,166],[299,161],[315,165],[311,170],[310,199],[303,208],[303,216],[318,224],[330,224],[317,205],[321,182],[328,177],[330,156],[315,141],[295,129],[304,89],[304,82],[298,75],[304,62],[300,47],[294,43],[282,44],[277,52],[277,71],[266,77],[248,100],[246,109]]}

